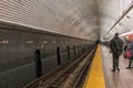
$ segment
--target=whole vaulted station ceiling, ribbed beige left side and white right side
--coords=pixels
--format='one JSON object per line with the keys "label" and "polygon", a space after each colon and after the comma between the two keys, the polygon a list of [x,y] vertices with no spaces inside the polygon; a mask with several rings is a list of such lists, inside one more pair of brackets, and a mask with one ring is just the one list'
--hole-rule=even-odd
{"label": "whole vaulted station ceiling, ribbed beige left side and white right side", "polygon": [[[104,36],[132,0],[0,0],[0,21],[70,36]],[[105,36],[132,31],[131,10]]]}

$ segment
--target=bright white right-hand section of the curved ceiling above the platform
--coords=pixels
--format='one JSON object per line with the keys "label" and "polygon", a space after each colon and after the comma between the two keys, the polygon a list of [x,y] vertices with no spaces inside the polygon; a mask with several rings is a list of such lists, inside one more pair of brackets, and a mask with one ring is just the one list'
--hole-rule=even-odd
{"label": "bright white right-hand section of the curved ceiling above the platform", "polygon": [[115,32],[123,34],[132,31],[133,0],[99,0],[99,3],[102,37],[112,37]]}

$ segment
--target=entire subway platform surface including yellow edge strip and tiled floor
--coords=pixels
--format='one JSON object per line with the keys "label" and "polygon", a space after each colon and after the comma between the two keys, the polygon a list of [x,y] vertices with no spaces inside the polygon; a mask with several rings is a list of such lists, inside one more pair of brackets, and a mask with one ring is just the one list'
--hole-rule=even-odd
{"label": "entire subway platform surface including yellow edge strip and tiled floor", "polygon": [[99,46],[83,88],[133,88],[133,68],[126,69],[129,59],[120,56],[120,72],[112,70],[112,54]]}

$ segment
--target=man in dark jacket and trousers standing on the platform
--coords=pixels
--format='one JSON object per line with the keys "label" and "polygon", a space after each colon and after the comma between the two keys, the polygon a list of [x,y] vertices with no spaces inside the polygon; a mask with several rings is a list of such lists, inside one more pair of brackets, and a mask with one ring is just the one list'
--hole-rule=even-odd
{"label": "man in dark jacket and trousers standing on the platform", "polygon": [[115,69],[120,70],[119,57],[123,52],[123,42],[119,37],[117,33],[115,33],[115,36],[111,40],[110,48],[111,48],[111,52],[113,53],[113,69],[112,69],[112,72],[115,72]]}

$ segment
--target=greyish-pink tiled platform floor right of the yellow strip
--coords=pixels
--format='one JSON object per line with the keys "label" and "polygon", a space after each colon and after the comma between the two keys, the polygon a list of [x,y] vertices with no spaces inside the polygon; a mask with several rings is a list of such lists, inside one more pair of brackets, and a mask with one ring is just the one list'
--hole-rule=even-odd
{"label": "greyish-pink tiled platform floor right of the yellow strip", "polygon": [[102,62],[106,88],[133,88],[133,68],[126,69],[129,59],[120,57],[120,73],[112,73],[112,54],[105,46],[101,46]]}

